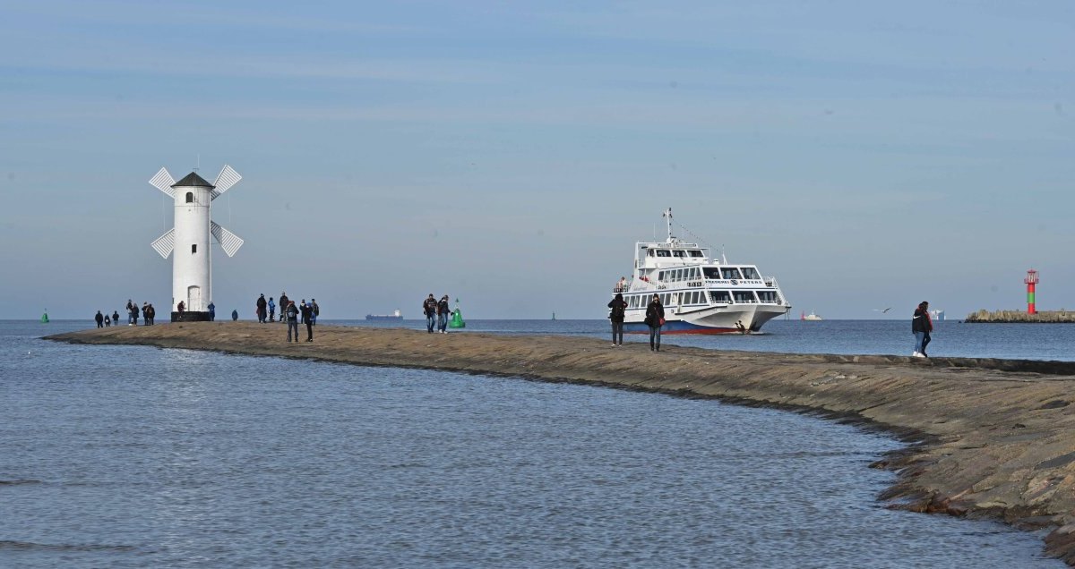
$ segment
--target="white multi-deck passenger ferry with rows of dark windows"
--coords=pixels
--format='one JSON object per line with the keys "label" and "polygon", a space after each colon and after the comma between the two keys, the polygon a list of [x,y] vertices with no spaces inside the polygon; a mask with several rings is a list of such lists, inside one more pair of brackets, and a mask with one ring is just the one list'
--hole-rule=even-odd
{"label": "white multi-deck passenger ferry with rows of dark windows", "polygon": [[729,263],[723,256],[718,261],[708,247],[680,240],[672,235],[672,209],[662,215],[668,239],[635,243],[632,275],[613,290],[628,303],[625,332],[648,332],[646,306],[655,293],[664,306],[663,334],[758,332],[791,310],[775,278],[762,277],[755,265]]}

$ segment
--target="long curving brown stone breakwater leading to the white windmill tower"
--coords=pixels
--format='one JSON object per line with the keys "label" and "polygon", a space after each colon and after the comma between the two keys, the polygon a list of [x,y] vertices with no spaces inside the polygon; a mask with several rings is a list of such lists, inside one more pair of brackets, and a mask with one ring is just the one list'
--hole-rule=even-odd
{"label": "long curving brown stone breakwater leading to the white windmill tower", "polygon": [[287,344],[281,325],[199,322],[49,336],[521,376],[820,412],[893,432],[909,447],[874,466],[898,472],[882,498],[920,512],[1049,528],[1046,548],[1075,565],[1075,364],[883,355],[726,352],[571,336],[318,325]]}

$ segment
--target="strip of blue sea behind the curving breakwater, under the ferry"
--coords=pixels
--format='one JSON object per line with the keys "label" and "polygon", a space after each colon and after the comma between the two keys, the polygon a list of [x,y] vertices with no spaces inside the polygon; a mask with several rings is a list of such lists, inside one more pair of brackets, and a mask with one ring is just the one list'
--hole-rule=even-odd
{"label": "strip of blue sea behind the curving breakwater, under the ferry", "polygon": [[[425,320],[368,322],[341,320],[356,326],[425,330]],[[1075,361],[1073,324],[964,324],[936,322],[929,353],[933,356],[1002,358]],[[464,331],[504,334],[568,334],[612,339],[607,320],[468,320]],[[648,335],[627,335],[624,341],[649,341]],[[762,334],[742,336],[668,335],[662,344],[783,353],[911,355],[915,337],[911,320],[771,320]]]}

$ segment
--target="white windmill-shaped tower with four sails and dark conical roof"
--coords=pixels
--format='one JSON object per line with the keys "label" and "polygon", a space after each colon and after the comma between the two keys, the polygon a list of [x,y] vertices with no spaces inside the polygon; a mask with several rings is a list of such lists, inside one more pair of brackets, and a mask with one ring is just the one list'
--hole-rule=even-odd
{"label": "white windmill-shaped tower with four sails and dark conical roof", "polygon": [[228,257],[235,254],[243,239],[210,219],[213,200],[243,179],[229,165],[213,184],[197,172],[175,181],[168,170],[160,169],[149,184],[175,201],[175,224],[157,240],[153,248],[160,257],[172,258],[172,322],[178,320],[176,307],[184,303],[183,320],[209,320],[209,304],[213,302],[213,260],[210,246],[216,237]]}

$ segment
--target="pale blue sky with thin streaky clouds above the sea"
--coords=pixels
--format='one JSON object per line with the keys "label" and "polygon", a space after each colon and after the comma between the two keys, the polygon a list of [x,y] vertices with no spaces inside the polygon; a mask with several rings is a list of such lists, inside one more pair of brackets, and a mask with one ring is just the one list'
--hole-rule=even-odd
{"label": "pale blue sky with thin streaky clouds above the sea", "polygon": [[167,306],[225,163],[244,317],[602,318],[666,207],[796,315],[1075,309],[1075,4],[575,4],[5,2],[0,313]]}

